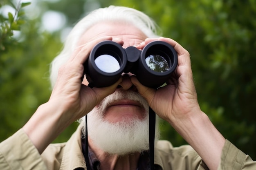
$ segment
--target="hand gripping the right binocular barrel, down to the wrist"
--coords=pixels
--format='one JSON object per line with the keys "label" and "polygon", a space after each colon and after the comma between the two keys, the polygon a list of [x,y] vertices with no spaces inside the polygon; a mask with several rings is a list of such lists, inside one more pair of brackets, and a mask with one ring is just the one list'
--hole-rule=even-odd
{"label": "hand gripping the right binocular barrel, down to the wrist", "polygon": [[169,38],[146,39],[140,44],[140,48],[143,49],[146,44],[155,40],[167,42],[174,47],[178,55],[177,68],[164,87],[153,89],[141,84],[137,86],[136,79],[134,83],[157,115],[173,124],[186,115],[200,111],[193,83],[190,55],[180,44]]}

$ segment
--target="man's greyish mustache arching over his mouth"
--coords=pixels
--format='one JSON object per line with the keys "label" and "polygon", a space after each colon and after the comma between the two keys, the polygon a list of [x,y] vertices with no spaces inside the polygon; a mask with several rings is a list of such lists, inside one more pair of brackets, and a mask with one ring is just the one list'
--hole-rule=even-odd
{"label": "man's greyish mustache arching over his mouth", "polygon": [[128,100],[138,102],[144,107],[146,113],[148,113],[149,106],[148,106],[148,102],[146,101],[146,99],[144,99],[144,97],[142,97],[139,93],[135,91],[124,91],[124,90],[116,90],[111,95],[108,95],[107,97],[105,97],[101,101],[101,103],[97,106],[97,110],[99,111],[99,113],[104,113],[106,108],[108,108],[108,106],[110,106],[112,103],[116,101],[121,101],[123,99],[128,99]]}

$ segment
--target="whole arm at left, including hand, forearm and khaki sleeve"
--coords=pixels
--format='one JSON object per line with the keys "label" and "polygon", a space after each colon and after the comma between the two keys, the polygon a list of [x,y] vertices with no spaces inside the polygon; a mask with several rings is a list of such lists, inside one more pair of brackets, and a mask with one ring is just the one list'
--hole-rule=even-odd
{"label": "whole arm at left, including hand, forearm and khaki sleeve", "polygon": [[[60,68],[49,101],[38,107],[22,129],[0,143],[1,170],[46,170],[40,157],[43,150],[67,126],[115,91],[121,79],[106,88],[89,88],[85,86],[86,80],[81,84],[83,63],[92,47],[103,40],[112,40],[112,37],[98,38],[77,47],[70,60]],[[115,42],[123,43],[121,40]]]}

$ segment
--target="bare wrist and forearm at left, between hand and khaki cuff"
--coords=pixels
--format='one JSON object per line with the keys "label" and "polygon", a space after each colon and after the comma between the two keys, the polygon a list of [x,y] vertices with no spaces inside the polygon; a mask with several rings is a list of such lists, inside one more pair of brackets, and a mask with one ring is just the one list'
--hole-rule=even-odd
{"label": "bare wrist and forearm at left, between hand and khaki cuff", "polygon": [[64,121],[61,106],[53,102],[47,102],[38,107],[22,129],[38,149],[38,152],[42,153],[71,123],[70,121]]}

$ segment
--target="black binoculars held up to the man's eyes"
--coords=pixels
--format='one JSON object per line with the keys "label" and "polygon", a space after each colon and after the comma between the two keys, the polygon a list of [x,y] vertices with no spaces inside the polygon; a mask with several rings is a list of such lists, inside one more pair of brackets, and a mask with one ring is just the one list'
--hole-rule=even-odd
{"label": "black binoculars held up to the man's eyes", "polygon": [[126,49],[113,41],[94,46],[84,63],[84,73],[90,86],[106,87],[114,84],[122,73],[135,74],[144,86],[163,85],[177,66],[177,53],[163,41],[148,43],[143,50],[134,46]]}

